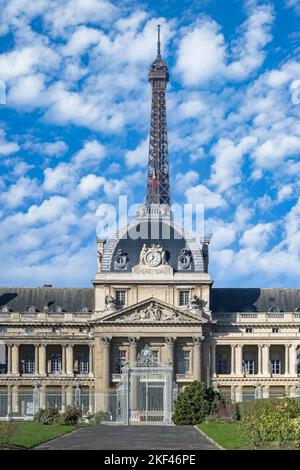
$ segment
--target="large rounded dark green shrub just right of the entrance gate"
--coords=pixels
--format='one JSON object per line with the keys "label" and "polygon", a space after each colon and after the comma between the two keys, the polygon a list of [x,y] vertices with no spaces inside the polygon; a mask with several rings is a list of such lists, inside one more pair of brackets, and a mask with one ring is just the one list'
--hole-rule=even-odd
{"label": "large rounded dark green shrub just right of the entrance gate", "polygon": [[198,424],[216,409],[220,394],[195,380],[179,393],[172,420],[174,424]]}

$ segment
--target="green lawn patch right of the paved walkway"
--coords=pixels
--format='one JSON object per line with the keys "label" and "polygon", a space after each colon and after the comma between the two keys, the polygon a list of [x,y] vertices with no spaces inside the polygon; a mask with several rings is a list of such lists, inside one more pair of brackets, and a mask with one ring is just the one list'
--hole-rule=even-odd
{"label": "green lawn patch right of the paved walkway", "polygon": [[199,429],[224,449],[251,449],[250,442],[236,423],[201,423]]}

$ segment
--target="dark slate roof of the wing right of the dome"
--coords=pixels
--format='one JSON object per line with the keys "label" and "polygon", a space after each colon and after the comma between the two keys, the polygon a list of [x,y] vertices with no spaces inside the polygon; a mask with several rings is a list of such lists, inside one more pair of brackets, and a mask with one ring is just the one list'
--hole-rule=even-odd
{"label": "dark slate roof of the wing right of the dome", "polygon": [[300,306],[300,289],[213,288],[213,312],[294,312]]}

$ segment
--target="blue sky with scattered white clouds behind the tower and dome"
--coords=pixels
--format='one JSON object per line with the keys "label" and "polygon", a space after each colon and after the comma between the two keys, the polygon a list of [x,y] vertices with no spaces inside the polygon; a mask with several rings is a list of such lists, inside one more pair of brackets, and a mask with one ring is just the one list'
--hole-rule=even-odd
{"label": "blue sky with scattered white clouds behind the tower and dome", "polygon": [[172,198],[215,286],[298,287],[299,0],[0,0],[0,284],[90,286],[96,211],[145,197],[162,25]]}

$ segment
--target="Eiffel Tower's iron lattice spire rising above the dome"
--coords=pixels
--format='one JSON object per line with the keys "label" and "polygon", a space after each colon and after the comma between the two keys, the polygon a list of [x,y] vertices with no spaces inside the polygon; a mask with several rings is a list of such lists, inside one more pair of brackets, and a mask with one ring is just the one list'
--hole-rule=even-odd
{"label": "Eiffel Tower's iron lattice spire rising above the dome", "polygon": [[151,125],[147,176],[146,205],[170,205],[168,162],[168,133],[166,88],[169,81],[168,66],[160,54],[160,26],[158,25],[157,55],[148,74],[152,87]]}

